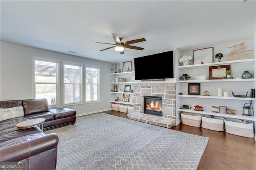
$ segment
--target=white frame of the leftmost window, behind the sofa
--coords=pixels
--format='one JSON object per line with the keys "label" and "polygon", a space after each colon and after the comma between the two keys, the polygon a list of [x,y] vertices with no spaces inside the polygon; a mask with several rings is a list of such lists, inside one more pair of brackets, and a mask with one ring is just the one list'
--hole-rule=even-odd
{"label": "white frame of the leftmost window, behind the sofa", "polygon": [[33,59],[33,64],[32,64],[32,77],[33,77],[32,95],[33,95],[34,99],[36,99],[35,61],[46,61],[46,62],[58,63],[57,79],[56,79],[57,80],[57,82],[56,82],[57,104],[56,105],[49,105],[49,108],[60,107],[60,60],[46,58],[46,57],[38,57],[38,56],[32,56],[32,59]]}

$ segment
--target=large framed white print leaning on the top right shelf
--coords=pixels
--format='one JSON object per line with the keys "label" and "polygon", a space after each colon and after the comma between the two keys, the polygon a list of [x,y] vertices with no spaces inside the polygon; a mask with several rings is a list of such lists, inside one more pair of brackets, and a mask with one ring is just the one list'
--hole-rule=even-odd
{"label": "large framed white print leaning on the top right shelf", "polygon": [[212,63],[213,61],[213,47],[195,49],[194,53],[194,64]]}

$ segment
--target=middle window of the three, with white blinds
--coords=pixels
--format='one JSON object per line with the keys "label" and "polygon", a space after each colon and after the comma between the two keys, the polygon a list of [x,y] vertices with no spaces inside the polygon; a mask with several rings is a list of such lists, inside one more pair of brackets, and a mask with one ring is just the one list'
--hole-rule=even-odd
{"label": "middle window of the three, with white blinds", "polygon": [[82,64],[64,62],[64,104],[82,103]]}

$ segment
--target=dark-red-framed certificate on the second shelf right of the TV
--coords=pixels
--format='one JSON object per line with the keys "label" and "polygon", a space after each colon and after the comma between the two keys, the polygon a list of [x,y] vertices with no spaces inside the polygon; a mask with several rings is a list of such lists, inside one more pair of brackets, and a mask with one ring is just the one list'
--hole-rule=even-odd
{"label": "dark-red-framed certificate on the second shelf right of the TV", "polygon": [[227,77],[226,71],[230,70],[230,65],[218,65],[209,67],[209,80],[225,79]]}

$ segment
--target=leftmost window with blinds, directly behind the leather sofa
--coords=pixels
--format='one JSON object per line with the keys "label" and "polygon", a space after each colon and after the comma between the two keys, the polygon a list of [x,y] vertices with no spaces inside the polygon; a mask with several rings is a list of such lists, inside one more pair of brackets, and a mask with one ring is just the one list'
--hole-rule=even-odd
{"label": "leftmost window with blinds, directly behind the leather sofa", "polygon": [[34,57],[35,99],[47,99],[49,106],[58,105],[58,60]]}

